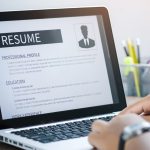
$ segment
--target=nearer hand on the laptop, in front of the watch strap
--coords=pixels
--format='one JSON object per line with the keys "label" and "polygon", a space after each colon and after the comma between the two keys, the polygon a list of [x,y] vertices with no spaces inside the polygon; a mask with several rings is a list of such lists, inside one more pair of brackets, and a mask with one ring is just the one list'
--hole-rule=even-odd
{"label": "nearer hand on the laptop, in front of the watch strap", "polygon": [[110,122],[97,120],[92,124],[92,132],[88,137],[89,143],[100,150],[117,150],[119,137],[124,127],[143,121],[143,118],[135,114],[120,115],[113,118]]}

